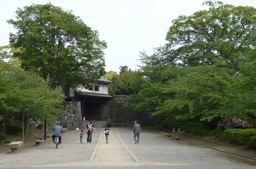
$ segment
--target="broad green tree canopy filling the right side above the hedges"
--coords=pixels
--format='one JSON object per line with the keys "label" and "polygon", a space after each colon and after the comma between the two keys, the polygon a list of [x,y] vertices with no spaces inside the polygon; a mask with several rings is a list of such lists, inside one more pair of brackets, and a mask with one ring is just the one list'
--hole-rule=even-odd
{"label": "broad green tree canopy filling the right side above the hedges", "polygon": [[135,107],[155,100],[153,115],[208,121],[256,116],[256,9],[203,5],[209,9],[173,20],[164,47],[141,53],[149,85],[134,95]]}

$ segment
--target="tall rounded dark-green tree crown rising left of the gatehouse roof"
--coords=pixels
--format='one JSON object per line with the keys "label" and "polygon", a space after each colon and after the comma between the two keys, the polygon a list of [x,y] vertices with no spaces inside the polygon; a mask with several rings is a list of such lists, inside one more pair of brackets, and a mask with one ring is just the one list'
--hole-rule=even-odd
{"label": "tall rounded dark-green tree crown rising left of the gatehouse roof", "polygon": [[16,20],[7,22],[17,29],[10,33],[10,43],[19,48],[14,56],[22,68],[49,78],[51,88],[87,87],[89,79],[104,75],[106,42],[72,11],[49,2],[18,8],[16,14]]}

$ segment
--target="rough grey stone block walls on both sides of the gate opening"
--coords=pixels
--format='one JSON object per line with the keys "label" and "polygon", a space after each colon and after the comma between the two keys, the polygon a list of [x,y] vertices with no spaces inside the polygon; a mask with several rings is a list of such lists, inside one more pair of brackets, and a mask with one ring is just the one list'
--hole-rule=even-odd
{"label": "rough grey stone block walls on both sides of the gate opening", "polygon": [[[160,125],[161,121],[164,120],[164,118],[162,117],[151,117],[152,112],[141,112],[133,110],[133,108],[131,108],[131,106],[126,101],[126,99],[128,98],[129,96],[126,95],[117,95],[114,96],[113,99],[110,99],[109,101],[102,103],[101,120],[107,121],[108,117],[110,117],[112,126],[133,126],[135,120],[137,120],[141,126],[152,126]],[[84,124],[82,122],[82,111],[80,101],[66,101],[62,105],[62,108],[63,110],[68,110],[68,112],[66,113],[68,117],[66,121],[68,129],[74,130],[76,128],[84,128]],[[65,116],[59,115],[58,117],[56,117],[53,124],[48,123],[48,131],[52,130],[58,121],[60,122],[60,125],[62,127],[65,126]],[[36,121],[30,118],[29,128],[44,129],[44,122]]]}

